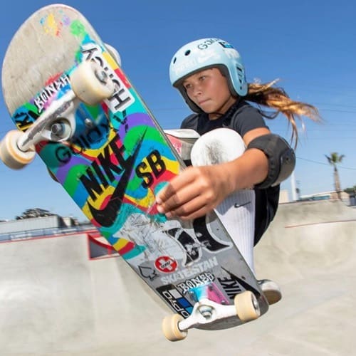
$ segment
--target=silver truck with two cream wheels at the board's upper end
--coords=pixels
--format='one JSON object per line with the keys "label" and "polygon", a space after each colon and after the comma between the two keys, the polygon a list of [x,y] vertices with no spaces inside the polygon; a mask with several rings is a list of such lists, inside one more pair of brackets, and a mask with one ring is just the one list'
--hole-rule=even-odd
{"label": "silver truck with two cream wheels at the board's upper end", "polygon": [[[35,145],[42,140],[63,142],[75,133],[75,110],[80,103],[98,105],[115,93],[115,85],[94,61],[85,61],[70,73],[71,90],[54,100],[26,130],[9,131],[0,142],[0,157],[12,169],[33,161]],[[90,125],[85,122],[85,125]]]}

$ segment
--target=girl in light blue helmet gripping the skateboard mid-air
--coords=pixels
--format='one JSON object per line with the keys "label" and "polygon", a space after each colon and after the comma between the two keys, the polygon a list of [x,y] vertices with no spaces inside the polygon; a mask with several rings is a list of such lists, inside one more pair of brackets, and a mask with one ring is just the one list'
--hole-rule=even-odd
{"label": "girl in light blue helmet gripping the skateboard mid-air", "polygon": [[[312,105],[288,98],[281,88],[247,83],[239,53],[226,41],[204,38],[193,41],[174,54],[169,76],[184,100],[194,111],[181,127],[200,135],[219,127],[229,127],[241,135],[246,151],[232,162],[205,167],[187,167],[157,195],[157,205],[167,217],[196,219],[219,206],[229,194],[253,189],[256,211],[254,233],[233,236],[236,246],[253,268],[253,246],[261,239],[278,207],[279,184],[293,172],[295,154],[282,137],[268,129],[263,117],[286,115],[293,128],[292,141],[298,141],[296,118],[310,117],[318,121],[318,110]],[[268,114],[248,102],[265,105],[275,112]],[[243,237],[241,237],[243,236]],[[246,239],[246,241],[237,241]],[[241,248],[251,246],[251,248]],[[249,251],[248,251],[249,250]],[[268,303],[276,303],[281,292],[272,281],[261,281]]]}

